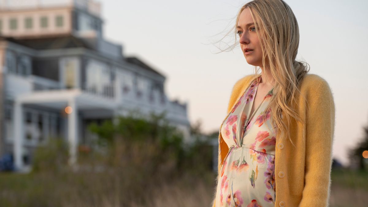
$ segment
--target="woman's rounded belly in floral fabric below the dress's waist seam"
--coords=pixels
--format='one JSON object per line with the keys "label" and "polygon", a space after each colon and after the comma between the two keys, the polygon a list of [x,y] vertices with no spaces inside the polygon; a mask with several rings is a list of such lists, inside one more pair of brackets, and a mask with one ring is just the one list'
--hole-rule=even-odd
{"label": "woman's rounded belly in floral fabric below the dress's waist seam", "polygon": [[219,206],[274,206],[274,171],[275,155],[246,147],[231,148],[217,185]]}

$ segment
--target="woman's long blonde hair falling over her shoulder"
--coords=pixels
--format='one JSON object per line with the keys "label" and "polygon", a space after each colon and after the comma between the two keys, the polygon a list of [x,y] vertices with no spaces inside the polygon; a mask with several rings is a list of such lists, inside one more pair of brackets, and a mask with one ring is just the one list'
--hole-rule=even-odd
{"label": "woman's long blonde hair falling over her shoulder", "polygon": [[[282,137],[288,137],[291,141],[288,131],[291,118],[302,126],[305,124],[291,103],[297,101],[300,95],[298,86],[309,71],[308,63],[296,60],[299,46],[298,22],[283,0],[254,0],[241,7],[234,27],[244,9],[250,10],[254,20],[263,53],[262,65],[270,69],[275,79],[273,95],[265,111],[270,110],[275,130],[281,130]],[[236,28],[234,32],[237,38]],[[255,67],[257,77],[258,70]],[[284,116],[286,121],[282,120]],[[293,141],[291,143],[294,145]]]}

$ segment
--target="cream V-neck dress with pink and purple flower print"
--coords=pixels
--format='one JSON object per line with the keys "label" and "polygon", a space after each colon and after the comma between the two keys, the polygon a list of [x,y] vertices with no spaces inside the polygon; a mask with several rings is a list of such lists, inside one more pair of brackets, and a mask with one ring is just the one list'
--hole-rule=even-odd
{"label": "cream V-neck dress with pink and purple flower print", "polygon": [[265,111],[273,88],[250,114],[260,80],[261,76],[251,82],[220,129],[229,152],[220,170],[216,207],[275,206],[276,133],[270,110]]}

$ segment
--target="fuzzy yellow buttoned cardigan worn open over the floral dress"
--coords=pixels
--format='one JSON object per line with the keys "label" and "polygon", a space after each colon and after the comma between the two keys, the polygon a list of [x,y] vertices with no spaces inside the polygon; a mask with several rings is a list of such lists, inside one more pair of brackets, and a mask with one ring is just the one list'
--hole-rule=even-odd
{"label": "fuzzy yellow buttoned cardigan worn open over the floral dress", "polygon": [[[236,82],[231,92],[227,116],[254,78],[255,74],[248,75]],[[296,147],[289,139],[280,137],[280,131],[276,135],[275,206],[328,207],[335,103],[328,83],[316,74],[306,74],[299,89],[299,106],[293,106],[305,121],[305,126],[295,120],[291,121],[289,133]],[[221,136],[221,127],[222,124],[219,133],[218,172],[229,152],[229,147]],[[305,137],[302,135],[303,128],[306,130]],[[212,204],[215,206],[215,200]]]}

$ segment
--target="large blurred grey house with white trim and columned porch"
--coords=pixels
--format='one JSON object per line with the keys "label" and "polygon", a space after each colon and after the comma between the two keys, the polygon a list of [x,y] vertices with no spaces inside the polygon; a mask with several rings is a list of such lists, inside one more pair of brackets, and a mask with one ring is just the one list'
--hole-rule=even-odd
{"label": "large blurred grey house with white trim and columned porch", "polygon": [[166,112],[190,140],[187,103],[170,101],[165,76],[106,41],[92,0],[0,0],[0,155],[17,169],[36,146],[63,137],[71,162],[93,135],[88,123]]}

